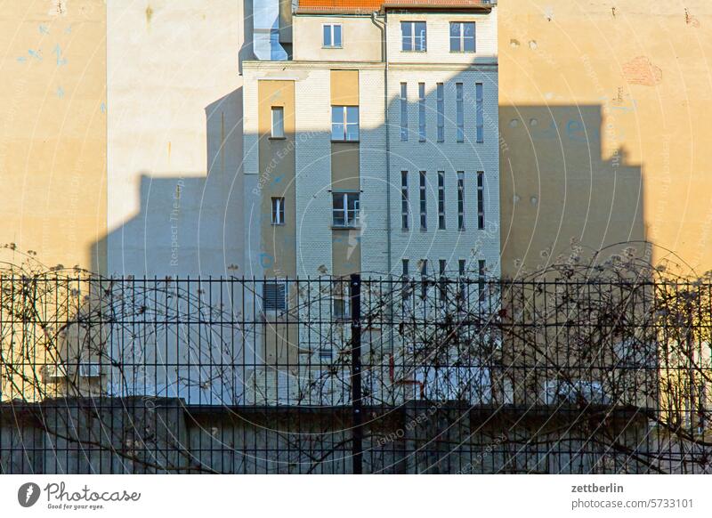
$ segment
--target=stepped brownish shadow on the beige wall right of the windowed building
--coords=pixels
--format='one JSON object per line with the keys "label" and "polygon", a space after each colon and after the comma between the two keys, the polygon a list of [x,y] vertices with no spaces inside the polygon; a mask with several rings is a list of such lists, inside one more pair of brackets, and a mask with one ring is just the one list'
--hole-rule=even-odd
{"label": "stepped brownish shadow on the beige wall right of the windowed building", "polygon": [[[649,257],[643,168],[630,164],[603,107],[499,107],[502,272],[516,278],[568,256],[605,260],[624,247]],[[603,138],[602,138],[603,137]],[[612,149],[603,156],[603,140]]]}

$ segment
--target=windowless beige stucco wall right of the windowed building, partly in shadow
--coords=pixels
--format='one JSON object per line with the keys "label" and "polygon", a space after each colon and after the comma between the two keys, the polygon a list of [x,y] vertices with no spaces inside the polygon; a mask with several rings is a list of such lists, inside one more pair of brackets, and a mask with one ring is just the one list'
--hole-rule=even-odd
{"label": "windowless beige stucco wall right of the windowed building, partly in shadow", "polygon": [[499,10],[503,271],[542,265],[571,238],[649,239],[656,262],[672,250],[684,270],[710,269],[712,4]]}

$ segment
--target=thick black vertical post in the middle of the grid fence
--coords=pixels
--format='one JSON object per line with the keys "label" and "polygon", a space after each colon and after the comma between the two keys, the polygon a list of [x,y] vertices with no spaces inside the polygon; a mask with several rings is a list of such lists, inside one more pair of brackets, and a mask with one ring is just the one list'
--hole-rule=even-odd
{"label": "thick black vertical post in the middle of the grid fence", "polygon": [[352,463],[353,474],[363,473],[363,405],[361,401],[361,276],[351,276]]}

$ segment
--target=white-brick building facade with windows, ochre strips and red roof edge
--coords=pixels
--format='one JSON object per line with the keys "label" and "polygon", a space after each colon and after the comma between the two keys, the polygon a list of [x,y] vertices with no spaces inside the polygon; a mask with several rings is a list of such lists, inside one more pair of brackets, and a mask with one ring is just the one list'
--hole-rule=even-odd
{"label": "white-brick building facade with windows, ochre strips and red roof edge", "polygon": [[243,61],[246,274],[496,276],[497,6],[299,3]]}

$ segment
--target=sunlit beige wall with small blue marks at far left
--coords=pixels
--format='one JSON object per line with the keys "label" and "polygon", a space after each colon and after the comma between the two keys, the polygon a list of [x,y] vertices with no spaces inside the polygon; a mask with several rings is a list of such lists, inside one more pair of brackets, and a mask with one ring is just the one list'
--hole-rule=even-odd
{"label": "sunlit beige wall with small blue marks at far left", "polygon": [[105,34],[101,0],[0,9],[0,245],[47,265],[105,262]]}

